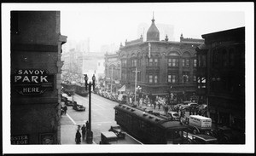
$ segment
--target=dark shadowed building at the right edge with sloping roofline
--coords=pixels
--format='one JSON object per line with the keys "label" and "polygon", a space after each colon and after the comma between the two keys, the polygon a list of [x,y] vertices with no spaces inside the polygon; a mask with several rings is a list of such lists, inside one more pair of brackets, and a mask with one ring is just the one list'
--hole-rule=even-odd
{"label": "dark shadowed building at the right edge with sloping roofline", "polygon": [[198,92],[207,99],[213,123],[244,134],[245,27],[205,34],[202,38],[205,43],[196,48]]}

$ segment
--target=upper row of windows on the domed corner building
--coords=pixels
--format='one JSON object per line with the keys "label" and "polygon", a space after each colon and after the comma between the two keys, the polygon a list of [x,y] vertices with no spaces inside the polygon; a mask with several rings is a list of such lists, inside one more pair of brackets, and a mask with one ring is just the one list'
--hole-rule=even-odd
{"label": "upper row of windows on the domed corner building", "polygon": [[[127,66],[127,60],[121,61],[122,66]],[[178,59],[167,59],[167,65],[177,67],[178,66]],[[131,66],[142,66],[141,60],[138,59],[132,59],[131,60]],[[147,66],[160,66],[159,59],[157,58],[150,58],[147,60]],[[189,67],[190,66],[190,59],[182,59],[182,66],[183,67]],[[196,60],[193,59],[193,66],[196,66]]]}

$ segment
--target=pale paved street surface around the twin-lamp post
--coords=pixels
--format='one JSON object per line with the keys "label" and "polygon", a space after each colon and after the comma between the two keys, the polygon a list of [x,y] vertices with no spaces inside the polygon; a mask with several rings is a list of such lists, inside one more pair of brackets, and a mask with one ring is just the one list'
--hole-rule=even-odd
{"label": "pale paved street surface around the twin-lamp post", "polygon": [[[72,107],[67,107],[67,114],[61,117],[61,144],[74,144],[77,125],[85,124],[89,118],[89,96],[74,95],[74,101],[86,107],[86,110],[85,112],[77,112]],[[117,102],[91,94],[91,130],[95,143],[100,142],[102,131],[108,131],[111,125],[116,124],[113,109],[116,105],[118,105]]]}

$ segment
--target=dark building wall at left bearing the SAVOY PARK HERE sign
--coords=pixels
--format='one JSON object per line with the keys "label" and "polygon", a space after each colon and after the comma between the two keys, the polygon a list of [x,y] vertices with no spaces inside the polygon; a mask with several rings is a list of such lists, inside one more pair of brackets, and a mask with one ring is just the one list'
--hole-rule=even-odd
{"label": "dark building wall at left bearing the SAVOY PARK HERE sign", "polygon": [[59,11],[11,11],[11,144],[61,143]]}

